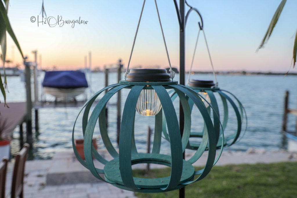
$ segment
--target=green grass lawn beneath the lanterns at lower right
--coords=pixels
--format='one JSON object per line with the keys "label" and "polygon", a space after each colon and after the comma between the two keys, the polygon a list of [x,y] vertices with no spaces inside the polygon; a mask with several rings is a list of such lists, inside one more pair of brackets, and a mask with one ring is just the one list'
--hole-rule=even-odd
{"label": "green grass lawn beneath the lanterns at lower right", "polygon": [[[195,168],[195,170],[198,170]],[[134,177],[158,178],[170,169],[133,170]],[[296,197],[297,163],[215,166],[202,180],[186,186],[185,197]],[[174,198],[178,190],[165,193],[135,193],[139,198]]]}

